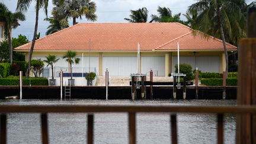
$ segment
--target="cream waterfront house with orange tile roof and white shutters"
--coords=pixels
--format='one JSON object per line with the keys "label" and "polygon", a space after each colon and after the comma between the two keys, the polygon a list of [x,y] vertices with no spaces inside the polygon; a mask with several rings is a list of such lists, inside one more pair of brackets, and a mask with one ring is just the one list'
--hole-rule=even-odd
{"label": "cream waterfront house with orange tile roof and white shutters", "polygon": [[[51,54],[62,57],[67,50],[76,51],[81,62],[73,65],[77,72],[91,67],[99,76],[129,76],[137,70],[137,43],[140,44],[140,70],[168,76],[175,71],[177,43],[180,44],[180,63],[188,63],[203,72],[225,70],[222,40],[193,34],[191,28],[180,23],[79,23],[36,41],[33,58],[45,59]],[[31,43],[15,48],[27,53]],[[227,43],[228,51],[236,47]],[[84,56],[84,62],[82,62]],[[60,58],[55,64],[68,69],[68,62]]]}

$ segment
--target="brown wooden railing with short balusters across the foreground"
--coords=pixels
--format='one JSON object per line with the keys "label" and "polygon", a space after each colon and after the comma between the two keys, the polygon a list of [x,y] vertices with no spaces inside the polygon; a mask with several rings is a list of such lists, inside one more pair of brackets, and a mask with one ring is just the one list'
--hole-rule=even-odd
{"label": "brown wooden railing with short balusters across the foreground", "polygon": [[[136,143],[136,113],[163,112],[171,114],[172,143],[178,143],[177,113],[217,114],[217,143],[223,143],[223,114],[256,114],[256,106],[0,105],[0,143],[5,144],[7,140],[7,113],[41,113],[41,135],[45,144],[49,143],[47,113],[129,113],[129,143]],[[88,114],[87,130],[87,143],[93,143],[93,114]]]}

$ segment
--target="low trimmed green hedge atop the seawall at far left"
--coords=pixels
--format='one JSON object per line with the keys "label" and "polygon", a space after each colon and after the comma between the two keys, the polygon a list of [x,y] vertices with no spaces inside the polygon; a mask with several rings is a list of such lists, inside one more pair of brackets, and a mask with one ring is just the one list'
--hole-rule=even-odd
{"label": "low trimmed green hedge atop the seawall at far left", "polygon": [[[47,78],[23,78],[23,85],[30,85],[30,81],[31,85],[48,85]],[[20,79],[15,77],[0,78],[0,85],[20,85]]]}

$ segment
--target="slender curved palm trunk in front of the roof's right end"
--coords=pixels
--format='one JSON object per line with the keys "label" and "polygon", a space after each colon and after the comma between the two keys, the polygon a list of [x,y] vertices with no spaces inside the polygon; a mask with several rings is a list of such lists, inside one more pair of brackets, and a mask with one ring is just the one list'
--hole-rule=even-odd
{"label": "slender curved palm trunk in front of the roof's right end", "polygon": [[228,78],[228,50],[226,49],[226,40],[224,36],[224,31],[223,31],[223,25],[220,21],[220,13],[217,11],[218,14],[218,19],[219,19],[219,25],[220,25],[220,36],[222,39],[223,47],[224,47],[224,53],[225,53],[225,60],[226,60],[226,79]]}

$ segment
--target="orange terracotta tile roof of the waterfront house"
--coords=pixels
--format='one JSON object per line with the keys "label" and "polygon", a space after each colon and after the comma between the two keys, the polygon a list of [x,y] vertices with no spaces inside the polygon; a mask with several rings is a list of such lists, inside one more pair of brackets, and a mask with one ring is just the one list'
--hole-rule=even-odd
{"label": "orange terracotta tile roof of the waterfront house", "polygon": [[137,50],[137,43],[141,50],[174,50],[178,41],[184,50],[223,49],[221,40],[194,36],[180,23],[79,23],[36,40],[34,50]]}

